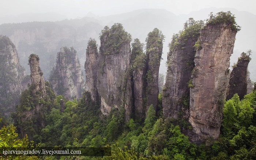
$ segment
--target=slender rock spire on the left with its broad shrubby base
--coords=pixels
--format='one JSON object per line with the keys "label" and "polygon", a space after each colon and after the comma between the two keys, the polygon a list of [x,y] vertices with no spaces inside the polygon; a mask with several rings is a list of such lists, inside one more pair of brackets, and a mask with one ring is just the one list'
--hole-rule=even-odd
{"label": "slender rock spire on the left with its broad shrubby base", "polygon": [[46,115],[54,106],[55,95],[50,83],[44,81],[36,54],[29,56],[29,66],[31,84],[22,92],[20,104],[12,118],[21,136],[27,134],[30,140],[38,141],[33,136],[39,134],[45,126]]}

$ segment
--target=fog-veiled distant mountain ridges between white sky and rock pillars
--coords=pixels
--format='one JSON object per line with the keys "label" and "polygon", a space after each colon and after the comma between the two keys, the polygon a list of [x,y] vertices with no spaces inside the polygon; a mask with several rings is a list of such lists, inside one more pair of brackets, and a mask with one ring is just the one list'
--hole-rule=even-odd
{"label": "fog-veiled distant mountain ridges between white sky and rock pillars", "polygon": [[[237,62],[237,58],[240,56],[242,52],[246,52],[247,50],[252,50],[252,61],[256,58],[255,52],[255,43],[256,38],[254,35],[256,33],[253,26],[256,23],[256,15],[251,14],[246,11],[237,11],[233,8],[205,8],[199,11],[193,11],[187,15],[175,15],[170,11],[165,9],[138,9],[135,11],[117,14],[117,15],[109,15],[109,16],[101,16],[97,17],[93,14],[88,14],[86,17],[81,19],[65,19],[56,22],[41,22],[39,25],[33,26],[36,22],[29,22],[26,23],[33,33],[35,30],[38,31],[38,28],[41,30],[49,31],[48,34],[56,34],[55,36],[48,36],[47,38],[46,33],[42,33],[42,37],[40,34],[35,36],[36,38],[34,41],[30,41],[30,39],[26,39],[24,37],[20,37],[20,40],[17,41],[17,36],[19,37],[17,30],[26,30],[26,27],[21,27],[24,23],[20,24],[2,24],[0,25],[0,34],[7,35],[10,39],[14,42],[17,46],[18,54],[20,56],[20,62],[23,66],[25,66],[26,70],[27,67],[27,57],[31,52],[37,52],[40,50],[39,46],[34,46],[34,49],[25,49],[24,46],[21,46],[23,42],[28,42],[30,46],[35,45],[35,42],[40,43],[44,46],[44,50],[49,55],[49,57],[42,58],[43,61],[47,61],[47,58],[50,60],[55,59],[56,53],[59,51],[60,47],[67,46],[71,47],[74,46],[74,49],[78,51],[78,57],[80,59],[81,64],[85,62],[85,50],[86,44],[89,38],[95,38],[97,43],[99,44],[99,33],[103,29],[104,26],[111,26],[114,23],[121,23],[123,24],[125,30],[132,35],[132,38],[139,38],[142,43],[145,44],[145,39],[149,31],[153,28],[157,27],[159,30],[162,31],[163,35],[165,35],[165,42],[163,43],[163,60],[161,61],[160,66],[160,73],[166,73],[166,60],[167,60],[167,52],[168,52],[168,44],[171,41],[172,35],[178,33],[179,30],[183,28],[183,24],[188,18],[194,18],[195,20],[205,20],[208,18],[210,12],[216,14],[220,11],[231,11],[236,16],[236,22],[239,26],[241,26],[241,31],[238,32],[236,36],[236,42],[234,46],[234,53],[230,57],[230,64]],[[249,19],[249,20],[248,20]],[[7,21],[8,22],[8,21]],[[45,24],[48,24],[48,27]],[[52,29],[50,26],[55,26]],[[15,33],[16,30],[16,33]],[[60,32],[60,30],[62,30]],[[25,34],[28,34],[31,31],[25,31]],[[67,33],[69,32],[69,33]],[[61,36],[60,33],[65,33],[65,36]],[[55,37],[59,37],[54,39]],[[55,41],[55,42],[54,42]],[[22,43],[20,43],[22,42]],[[54,42],[54,43],[52,43]],[[50,49],[48,44],[51,45]],[[23,48],[23,49],[21,49]],[[38,53],[40,56],[40,53]],[[46,75],[46,79],[49,75],[49,69],[52,68],[54,65],[54,61],[48,64],[48,68],[42,66],[42,70]],[[251,79],[256,81],[256,73],[253,71],[256,64],[250,63],[249,64],[249,71],[251,72]],[[50,67],[49,67],[50,66]]]}

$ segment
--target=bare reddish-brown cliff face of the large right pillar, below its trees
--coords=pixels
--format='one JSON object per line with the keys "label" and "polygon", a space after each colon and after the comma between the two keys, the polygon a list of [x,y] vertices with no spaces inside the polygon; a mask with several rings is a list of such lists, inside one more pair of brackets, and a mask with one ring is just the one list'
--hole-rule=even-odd
{"label": "bare reddish-brown cliff face of the large right pillar, below its trees", "polygon": [[196,52],[194,60],[189,116],[193,131],[189,137],[196,143],[217,139],[220,133],[229,81],[229,57],[233,53],[237,30],[234,24],[219,21],[208,23],[200,31],[202,49]]}

